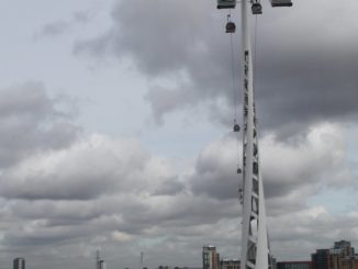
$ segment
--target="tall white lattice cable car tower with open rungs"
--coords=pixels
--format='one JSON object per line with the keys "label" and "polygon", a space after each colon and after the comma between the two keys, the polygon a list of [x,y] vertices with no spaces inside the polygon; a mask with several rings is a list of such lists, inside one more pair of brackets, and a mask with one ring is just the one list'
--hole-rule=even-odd
{"label": "tall white lattice cable car tower with open rungs", "polygon": [[[270,0],[272,7],[291,7],[291,0]],[[261,169],[259,161],[257,116],[254,94],[253,49],[250,44],[249,9],[261,14],[259,0],[242,0],[242,80],[244,89],[244,134],[243,134],[243,203],[242,266],[243,269],[268,269],[271,255],[268,242],[266,208]],[[219,9],[233,9],[236,0],[217,0]],[[226,33],[233,27],[226,25]],[[235,130],[235,128],[234,128]],[[236,132],[236,131],[235,131]]]}

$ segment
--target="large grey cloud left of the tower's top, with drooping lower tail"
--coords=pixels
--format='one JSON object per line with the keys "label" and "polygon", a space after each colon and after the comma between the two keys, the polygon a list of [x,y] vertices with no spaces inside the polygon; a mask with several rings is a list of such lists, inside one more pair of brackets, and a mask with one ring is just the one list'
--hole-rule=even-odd
{"label": "large grey cloud left of the tower's top, with drooping lower tail", "polygon": [[[158,122],[167,111],[221,96],[227,79],[221,66],[230,58],[226,54],[223,57],[221,47],[212,48],[206,42],[212,40],[211,31],[221,31],[208,18],[211,7],[204,1],[195,1],[189,9],[181,1],[138,1],[139,9],[132,9],[132,4],[136,5],[120,2],[112,13],[113,29],[98,40],[79,42],[75,53],[130,55],[149,78],[174,76],[182,81],[181,76],[187,77],[188,83],[180,82],[174,89],[155,86],[148,91],[146,99]],[[154,4],[158,7],[155,10],[150,9]]]}

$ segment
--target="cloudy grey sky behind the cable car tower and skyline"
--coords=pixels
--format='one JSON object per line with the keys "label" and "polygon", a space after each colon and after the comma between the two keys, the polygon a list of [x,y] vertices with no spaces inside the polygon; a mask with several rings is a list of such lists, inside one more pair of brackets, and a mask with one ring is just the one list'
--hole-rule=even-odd
{"label": "cloudy grey sky behind the cable car tower and skyline", "polygon": [[[358,247],[358,3],[262,5],[272,253]],[[243,92],[226,14],[214,0],[1,1],[0,268],[94,268],[97,249],[109,268],[138,268],[141,251],[149,268],[201,266],[205,244],[238,258]]]}

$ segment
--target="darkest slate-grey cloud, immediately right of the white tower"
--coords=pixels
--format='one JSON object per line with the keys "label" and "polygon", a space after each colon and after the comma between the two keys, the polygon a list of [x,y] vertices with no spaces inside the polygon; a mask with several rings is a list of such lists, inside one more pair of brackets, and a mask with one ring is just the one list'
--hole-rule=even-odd
{"label": "darkest slate-grey cloud, immediately right of the white tower", "polygon": [[262,63],[271,63],[258,68],[262,74],[257,87],[261,125],[272,130],[286,123],[293,133],[318,121],[353,121],[358,68],[353,51],[322,45],[299,54],[295,46],[286,45],[292,48],[283,55],[266,52],[261,57]]}

